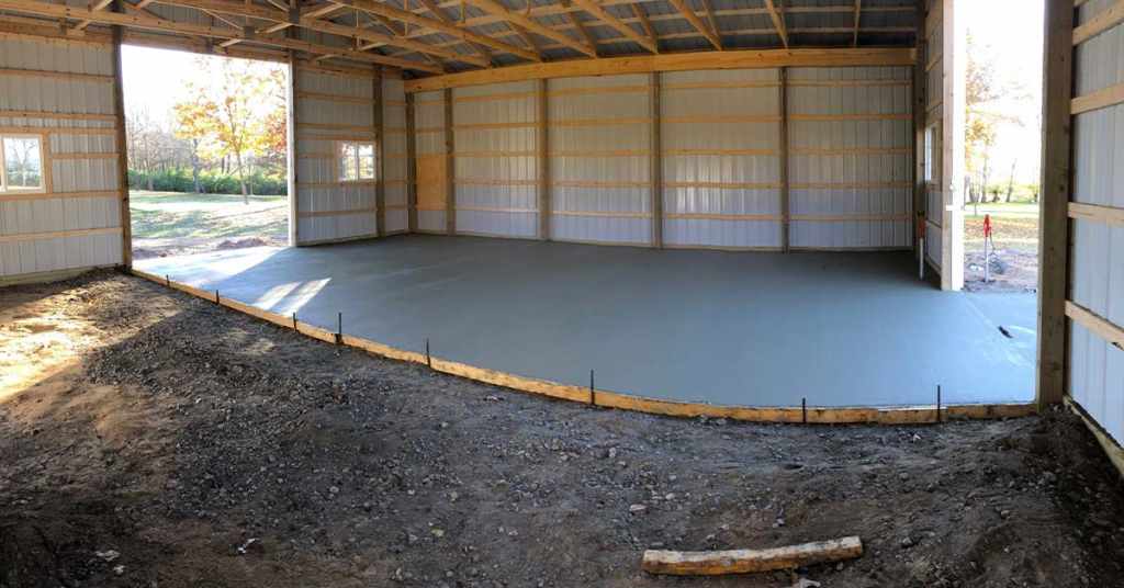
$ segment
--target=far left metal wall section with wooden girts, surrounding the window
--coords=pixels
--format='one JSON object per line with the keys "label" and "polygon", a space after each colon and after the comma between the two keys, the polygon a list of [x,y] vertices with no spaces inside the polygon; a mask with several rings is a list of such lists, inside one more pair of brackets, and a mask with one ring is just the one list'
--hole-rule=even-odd
{"label": "far left metal wall section with wooden girts, surrounding the window", "polygon": [[114,52],[0,36],[0,127],[39,136],[44,193],[0,195],[0,280],[121,263]]}

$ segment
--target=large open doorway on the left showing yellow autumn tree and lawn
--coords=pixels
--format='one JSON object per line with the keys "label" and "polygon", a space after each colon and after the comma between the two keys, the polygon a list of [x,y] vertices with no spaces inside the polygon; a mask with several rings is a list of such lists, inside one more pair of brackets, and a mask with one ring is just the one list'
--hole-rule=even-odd
{"label": "large open doorway on the left showing yellow autumn tree and lawn", "polygon": [[283,64],[123,49],[135,259],[288,245]]}

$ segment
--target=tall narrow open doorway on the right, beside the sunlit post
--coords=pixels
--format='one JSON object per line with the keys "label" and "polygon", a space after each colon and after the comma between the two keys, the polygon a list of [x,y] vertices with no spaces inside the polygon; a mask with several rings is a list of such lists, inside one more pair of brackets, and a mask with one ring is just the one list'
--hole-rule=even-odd
{"label": "tall narrow open doorway on the right, beside the sunlit post", "polygon": [[967,11],[964,289],[1039,283],[1042,0],[963,2]]}

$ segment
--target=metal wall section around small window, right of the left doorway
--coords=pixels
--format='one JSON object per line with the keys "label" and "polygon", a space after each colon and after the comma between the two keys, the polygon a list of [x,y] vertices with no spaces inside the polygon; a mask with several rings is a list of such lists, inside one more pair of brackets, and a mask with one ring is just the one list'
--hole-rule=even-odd
{"label": "metal wall section around small window, right of the left doorway", "polygon": [[375,182],[341,182],[338,143],[374,141],[374,78],[297,67],[297,243],[375,236]]}

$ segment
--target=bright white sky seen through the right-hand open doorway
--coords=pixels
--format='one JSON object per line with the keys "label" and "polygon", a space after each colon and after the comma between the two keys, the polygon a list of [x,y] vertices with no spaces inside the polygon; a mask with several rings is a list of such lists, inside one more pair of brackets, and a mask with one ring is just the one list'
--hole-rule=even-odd
{"label": "bright white sky seen through the right-hand open doorway", "polygon": [[1037,182],[1042,151],[1042,0],[960,0],[968,30],[979,45],[990,45],[997,71],[1019,80],[1031,94],[1026,103],[999,105],[1025,126],[1005,125],[995,150],[995,178],[1006,180],[1017,162],[1017,182]]}

